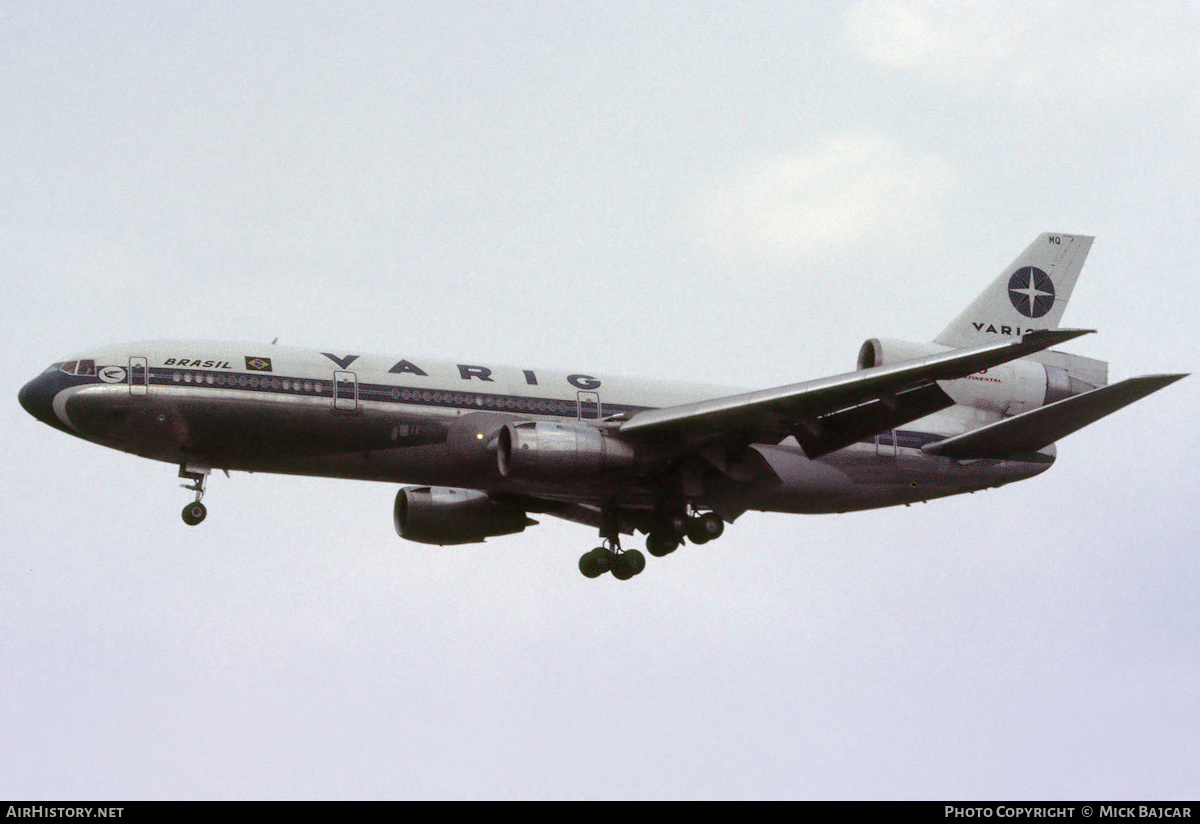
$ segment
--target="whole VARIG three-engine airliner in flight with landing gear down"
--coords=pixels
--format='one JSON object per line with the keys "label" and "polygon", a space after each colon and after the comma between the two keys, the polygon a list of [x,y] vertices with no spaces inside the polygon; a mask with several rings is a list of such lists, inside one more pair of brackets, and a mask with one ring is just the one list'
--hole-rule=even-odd
{"label": "whole VARIG three-engine airliner in flight with landing gear down", "polygon": [[204,521],[214,469],[408,483],[397,534],[439,546],[548,515],[599,530],[588,578],[719,537],[750,510],[866,510],[1000,487],[1055,443],[1186,377],[1108,383],[1051,347],[1092,237],[1048,233],[934,341],[868,339],[857,369],[746,391],[588,372],[157,341],[56,361],[19,392],[67,434],[179,467]]}

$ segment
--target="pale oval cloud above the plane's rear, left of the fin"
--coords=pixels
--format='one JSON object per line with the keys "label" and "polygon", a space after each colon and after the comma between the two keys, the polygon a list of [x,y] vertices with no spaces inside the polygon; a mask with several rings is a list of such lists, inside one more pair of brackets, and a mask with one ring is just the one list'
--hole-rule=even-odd
{"label": "pale oval cloud above the plane's rear, left of the fin", "polygon": [[718,251],[796,264],[929,231],[958,186],[955,169],[936,155],[842,134],[736,170],[715,188],[701,224]]}

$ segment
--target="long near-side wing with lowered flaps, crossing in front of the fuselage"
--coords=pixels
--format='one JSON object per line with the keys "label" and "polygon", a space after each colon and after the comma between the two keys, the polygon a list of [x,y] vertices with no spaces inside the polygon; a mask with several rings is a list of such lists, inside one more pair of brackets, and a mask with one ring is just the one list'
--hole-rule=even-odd
{"label": "long near-side wing with lowered flaps, crossing in front of the fuselage", "polygon": [[954,405],[938,380],[968,374],[1048,349],[1091,330],[1039,330],[1019,341],[952,349],[725,398],[636,413],[620,425],[631,438],[674,439],[689,447],[715,440],[779,443],[796,435],[810,458]]}

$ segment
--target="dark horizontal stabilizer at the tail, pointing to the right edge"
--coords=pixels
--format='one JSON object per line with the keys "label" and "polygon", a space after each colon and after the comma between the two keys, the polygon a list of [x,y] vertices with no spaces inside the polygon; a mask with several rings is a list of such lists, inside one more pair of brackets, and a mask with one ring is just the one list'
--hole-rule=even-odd
{"label": "dark horizontal stabilizer at the tail, pointing to the right edge", "polygon": [[1182,374],[1152,374],[1129,378],[1084,395],[1051,403],[1031,411],[1007,417],[954,438],[947,438],[922,449],[930,455],[950,458],[1006,458],[1027,455],[1066,438],[1105,415],[1140,401],[1174,384]]}

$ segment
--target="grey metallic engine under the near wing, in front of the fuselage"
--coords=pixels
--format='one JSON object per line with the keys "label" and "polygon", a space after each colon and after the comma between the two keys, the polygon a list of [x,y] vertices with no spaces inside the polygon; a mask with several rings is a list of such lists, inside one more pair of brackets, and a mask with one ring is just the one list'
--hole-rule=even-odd
{"label": "grey metallic engine under the near wing, in front of the fuselage", "polygon": [[587,479],[637,461],[634,447],[606,429],[550,421],[505,425],[498,455],[500,475],[529,481]]}

